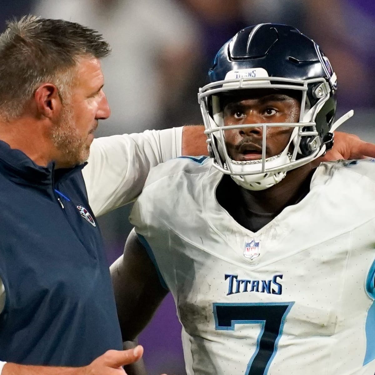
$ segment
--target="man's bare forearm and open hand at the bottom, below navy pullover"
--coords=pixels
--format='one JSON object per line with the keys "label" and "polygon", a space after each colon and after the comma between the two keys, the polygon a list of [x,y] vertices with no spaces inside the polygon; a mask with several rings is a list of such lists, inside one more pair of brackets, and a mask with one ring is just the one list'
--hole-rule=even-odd
{"label": "man's bare forearm and open hand at the bottom, below navy pullover", "polygon": [[76,368],[6,363],[1,375],[125,375],[125,371],[121,366],[138,361],[142,354],[143,348],[141,346],[126,351],[108,350],[90,365]]}

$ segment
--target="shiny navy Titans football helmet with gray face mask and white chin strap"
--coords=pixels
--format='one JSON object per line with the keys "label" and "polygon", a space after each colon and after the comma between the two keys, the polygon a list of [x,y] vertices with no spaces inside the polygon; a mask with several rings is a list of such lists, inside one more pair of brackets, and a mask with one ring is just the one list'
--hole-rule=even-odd
{"label": "shiny navy Titans football helmet with gray face mask and white chin strap", "polygon": [[[258,24],[239,31],[217,53],[208,84],[198,93],[214,166],[246,189],[263,190],[281,181],[290,169],[321,156],[333,145],[333,130],[353,115],[350,111],[334,122],[336,88],[336,74],[328,58],[296,28]],[[302,98],[300,117],[298,123],[257,123],[263,127],[262,157],[236,161],[226,149],[220,97],[249,89],[297,90]],[[266,158],[269,126],[290,126],[293,131],[284,151]]]}

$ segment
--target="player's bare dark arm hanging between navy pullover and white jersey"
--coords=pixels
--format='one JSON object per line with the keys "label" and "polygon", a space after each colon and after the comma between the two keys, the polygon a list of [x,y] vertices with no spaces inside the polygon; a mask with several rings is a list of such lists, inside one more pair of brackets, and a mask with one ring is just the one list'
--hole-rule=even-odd
{"label": "player's bare dark arm hanging between navy pullover and white jersey", "polygon": [[[134,229],[126,240],[124,254],[110,270],[121,335],[129,343],[151,320],[168,290],[160,283],[155,266]],[[138,364],[125,370],[129,375],[145,374]]]}

